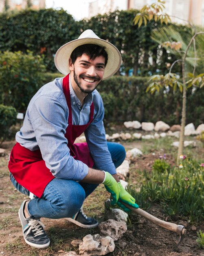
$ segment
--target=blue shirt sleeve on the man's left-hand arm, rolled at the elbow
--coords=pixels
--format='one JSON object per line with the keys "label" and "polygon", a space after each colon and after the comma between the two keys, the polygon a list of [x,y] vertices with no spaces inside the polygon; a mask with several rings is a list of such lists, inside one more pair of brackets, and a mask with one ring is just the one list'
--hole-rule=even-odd
{"label": "blue shirt sleeve on the man's left-hand arm, rolled at the elbow", "polygon": [[59,99],[46,95],[35,100],[29,117],[42,158],[50,172],[56,178],[82,180],[88,174],[88,166],[70,155],[64,137],[67,111]]}

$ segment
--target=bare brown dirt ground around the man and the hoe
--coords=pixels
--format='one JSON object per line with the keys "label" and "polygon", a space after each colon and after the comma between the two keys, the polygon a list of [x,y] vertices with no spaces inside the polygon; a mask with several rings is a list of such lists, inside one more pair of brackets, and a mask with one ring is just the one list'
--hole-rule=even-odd
{"label": "bare brown dirt ground around the man and the hoe", "polygon": [[[98,234],[99,230],[82,229],[66,219],[51,220],[42,218],[41,221],[46,226],[46,233],[50,237],[51,246],[48,249],[38,250],[29,247],[24,243],[22,228],[18,219],[18,209],[26,196],[16,191],[9,180],[9,171],[7,168],[8,156],[14,141],[4,144],[6,155],[0,157],[0,253],[3,256],[57,256],[66,251],[76,250],[71,245],[73,239],[82,239],[87,234]],[[126,148],[140,148],[140,143],[126,142]],[[2,146],[1,146],[2,147]],[[203,152],[204,153],[204,152]],[[138,157],[132,161],[131,168],[151,171],[151,166],[155,159],[158,159],[162,152],[149,153]],[[167,162],[173,164],[174,159],[167,155]],[[131,177],[129,177],[131,178]],[[101,210],[101,193],[103,196],[108,194],[100,185],[92,196],[85,202],[85,213],[94,212],[99,222],[103,221],[103,210]],[[176,247],[179,235],[168,231],[145,220],[144,218],[132,213],[131,222],[127,227],[124,236],[115,242],[115,250],[107,256],[204,256],[204,250],[197,247],[196,231],[204,231],[204,222],[192,226],[182,217],[174,220],[165,216],[159,205],[153,205],[148,210],[154,216],[184,225],[187,229],[186,236]]]}

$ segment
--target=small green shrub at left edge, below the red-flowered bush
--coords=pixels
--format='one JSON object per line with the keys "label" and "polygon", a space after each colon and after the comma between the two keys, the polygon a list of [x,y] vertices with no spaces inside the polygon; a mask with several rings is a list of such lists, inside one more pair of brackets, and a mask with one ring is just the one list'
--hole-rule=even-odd
{"label": "small green shrub at left edge, below the red-flowered bush", "polygon": [[0,143],[9,137],[10,127],[16,123],[16,116],[15,108],[0,104]]}

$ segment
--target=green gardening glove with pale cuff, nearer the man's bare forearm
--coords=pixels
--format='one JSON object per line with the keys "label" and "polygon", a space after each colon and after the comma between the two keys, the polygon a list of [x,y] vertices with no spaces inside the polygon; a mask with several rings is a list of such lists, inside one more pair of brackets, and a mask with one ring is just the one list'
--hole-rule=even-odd
{"label": "green gardening glove with pale cuff, nearer the man's bare forearm", "polygon": [[118,198],[120,196],[120,187],[119,184],[116,182],[116,180],[114,179],[114,177],[108,173],[105,172],[105,179],[102,182],[103,185],[105,186],[105,189],[111,193],[111,204],[116,204],[116,202],[118,201]]}

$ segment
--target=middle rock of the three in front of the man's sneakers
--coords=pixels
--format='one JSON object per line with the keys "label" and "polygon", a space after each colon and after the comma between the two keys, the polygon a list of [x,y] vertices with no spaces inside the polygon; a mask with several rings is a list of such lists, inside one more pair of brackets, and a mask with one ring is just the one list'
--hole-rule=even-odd
{"label": "middle rock of the three in front of the man's sneakers", "polygon": [[110,236],[117,241],[127,231],[127,225],[124,221],[106,220],[99,224],[100,234]]}

